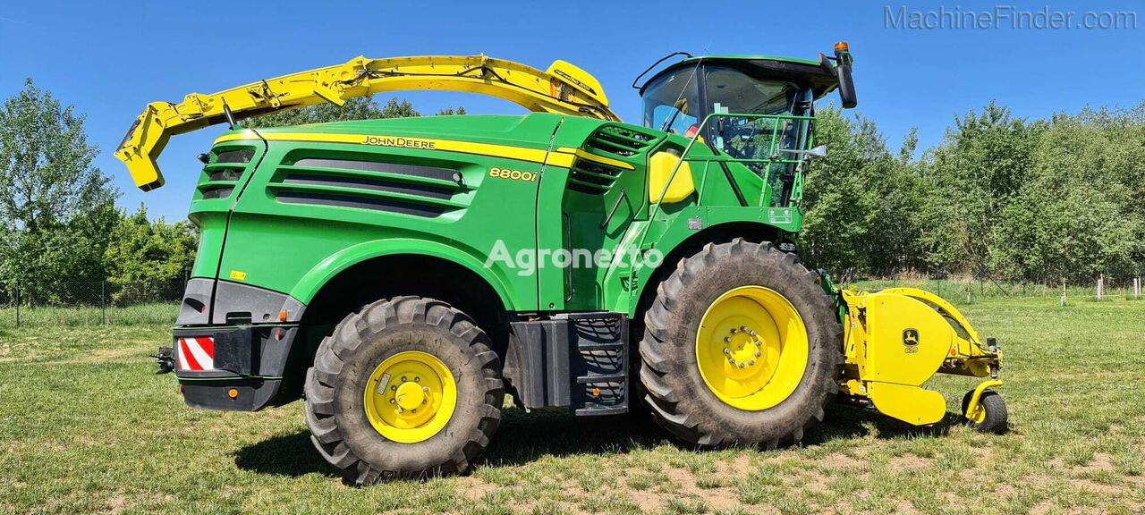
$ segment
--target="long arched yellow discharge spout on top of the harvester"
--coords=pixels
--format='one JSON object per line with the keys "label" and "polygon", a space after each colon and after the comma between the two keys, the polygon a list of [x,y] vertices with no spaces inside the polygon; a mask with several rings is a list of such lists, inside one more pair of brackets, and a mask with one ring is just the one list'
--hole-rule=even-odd
{"label": "long arched yellow discharge spout on top of the harvester", "polygon": [[563,61],[542,72],[510,61],[477,56],[417,56],[369,60],[319,68],[227,89],[191,93],[183,102],[152,102],[135,119],[116,150],[143,191],[163,185],[156,160],[176,134],[235,119],[346,100],[381,92],[434,89],[469,92],[504,98],[530,111],[619,121],[591,74]]}

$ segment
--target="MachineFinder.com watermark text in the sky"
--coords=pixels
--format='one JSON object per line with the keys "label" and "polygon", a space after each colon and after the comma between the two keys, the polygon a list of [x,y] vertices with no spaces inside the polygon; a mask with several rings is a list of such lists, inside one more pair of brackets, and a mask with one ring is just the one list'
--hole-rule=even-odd
{"label": "MachineFinder.com watermark text in the sky", "polygon": [[937,9],[907,9],[907,6],[884,6],[883,27],[913,31],[937,29],[1033,29],[1033,30],[1114,30],[1137,29],[1132,10],[1060,10],[1049,6],[1020,9],[1017,6],[994,6],[989,9],[962,9],[939,6]]}

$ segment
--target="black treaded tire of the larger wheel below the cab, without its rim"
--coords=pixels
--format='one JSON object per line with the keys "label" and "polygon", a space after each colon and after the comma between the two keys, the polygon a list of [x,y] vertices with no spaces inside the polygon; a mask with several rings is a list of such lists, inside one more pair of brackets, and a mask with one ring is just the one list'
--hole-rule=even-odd
{"label": "black treaded tire of the larger wheel below the cab, without its rim", "polygon": [[[808,428],[823,420],[824,406],[838,393],[836,380],[843,366],[843,327],[835,302],[816,279],[795,254],[742,238],[709,244],[680,260],[656,291],[640,342],[640,380],[656,421],[700,445],[774,449],[802,441]],[[810,352],[803,379],[790,396],[761,411],[724,403],[697,367],[695,339],[704,312],[720,295],[740,286],[765,286],[782,294],[807,328]]]}

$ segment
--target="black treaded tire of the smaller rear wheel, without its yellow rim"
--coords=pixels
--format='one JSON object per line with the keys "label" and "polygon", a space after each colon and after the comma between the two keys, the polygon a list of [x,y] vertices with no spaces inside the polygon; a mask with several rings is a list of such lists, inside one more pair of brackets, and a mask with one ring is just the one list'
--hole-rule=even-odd
{"label": "black treaded tire of the smaller rear wheel, without its yellow rim", "polygon": [[[310,441],[358,485],[465,472],[500,425],[505,390],[491,347],[469,317],[441,301],[398,296],[362,308],[322,341],[307,371]],[[457,383],[457,406],[449,422],[418,443],[384,437],[371,426],[363,404],[371,372],[387,357],[408,350],[441,359]]]}

